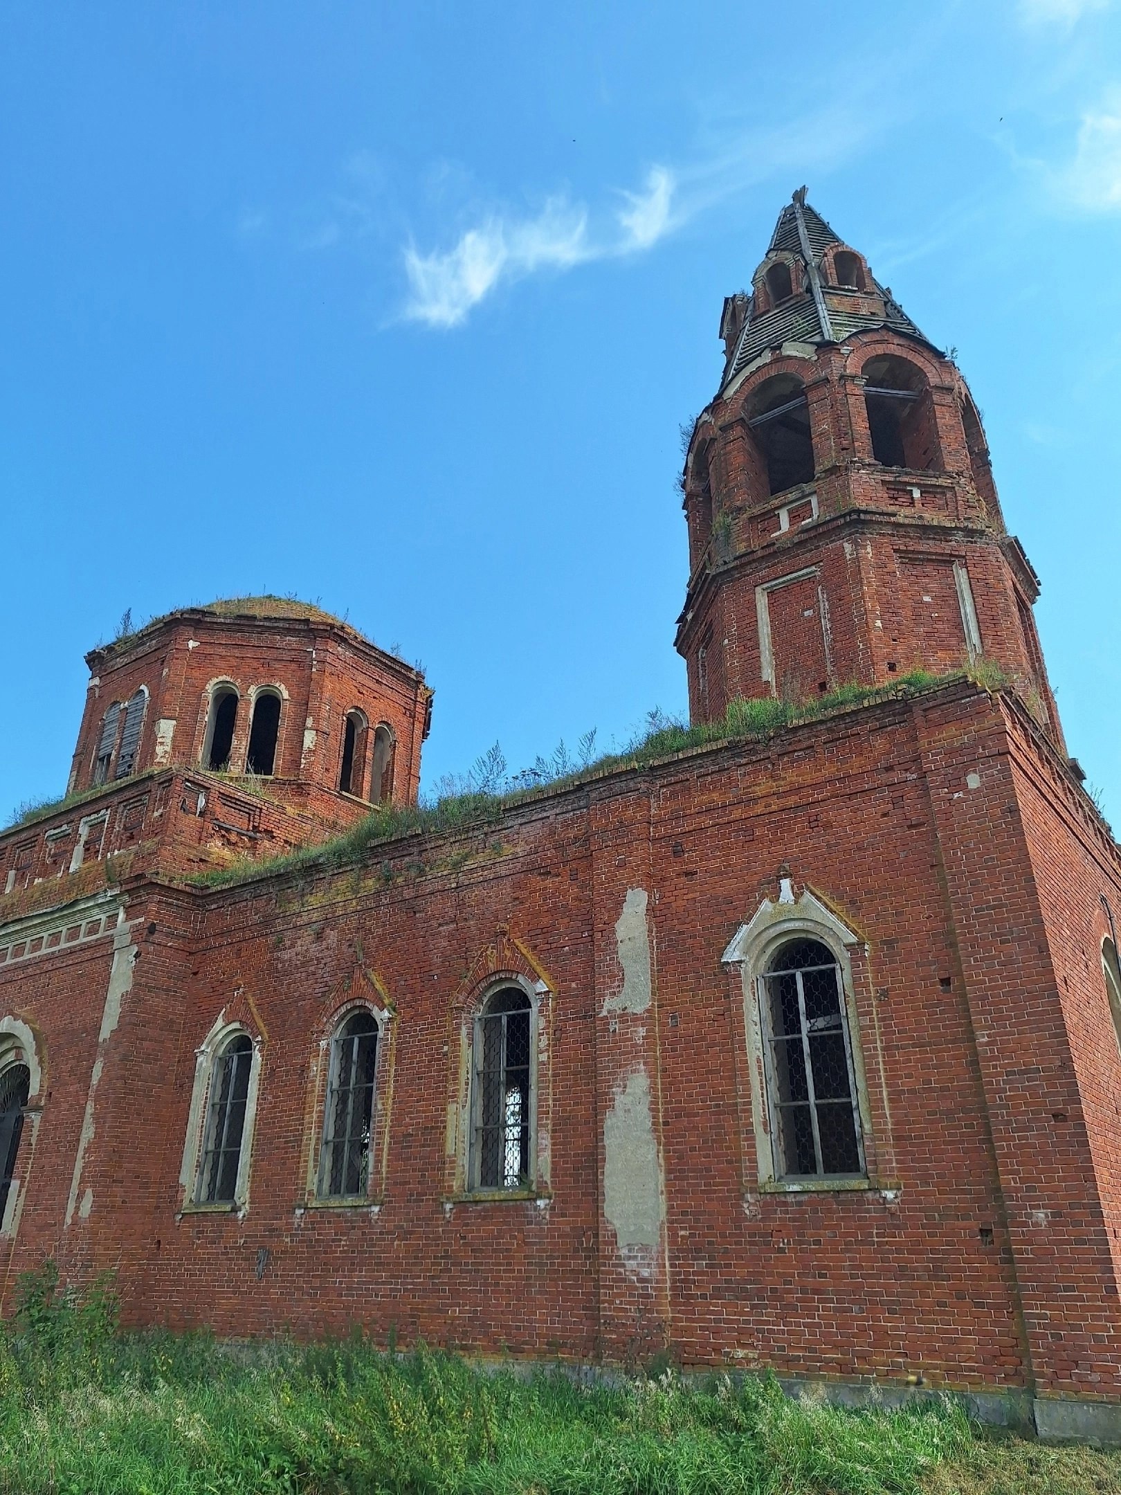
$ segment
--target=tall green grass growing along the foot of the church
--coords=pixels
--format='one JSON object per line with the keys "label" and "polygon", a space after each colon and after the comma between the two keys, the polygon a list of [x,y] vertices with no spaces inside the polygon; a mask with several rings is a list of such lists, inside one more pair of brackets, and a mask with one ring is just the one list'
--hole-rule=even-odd
{"label": "tall green grass growing along the foot of the church", "polygon": [[19,1287],[0,1334],[0,1491],[18,1495],[1088,1495],[1121,1455],[982,1438],[960,1408],[841,1411],[773,1377],[526,1380],[362,1341],[121,1335],[112,1295]]}

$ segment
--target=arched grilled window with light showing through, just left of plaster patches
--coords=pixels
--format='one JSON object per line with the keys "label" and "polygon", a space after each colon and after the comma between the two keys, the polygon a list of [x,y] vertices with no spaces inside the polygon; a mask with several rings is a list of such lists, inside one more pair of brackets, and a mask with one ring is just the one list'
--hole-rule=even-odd
{"label": "arched grilled window with light showing through, just left of plaster patches", "polygon": [[502,987],[475,1020],[474,1189],[529,1189],[532,1169],[532,1023],[520,987]]}

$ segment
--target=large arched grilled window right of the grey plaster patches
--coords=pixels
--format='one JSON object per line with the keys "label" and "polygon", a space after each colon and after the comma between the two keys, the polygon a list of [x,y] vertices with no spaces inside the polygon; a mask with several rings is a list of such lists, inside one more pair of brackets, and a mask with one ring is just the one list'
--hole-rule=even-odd
{"label": "large arched grilled window right of the grey plaster patches", "polygon": [[864,1171],[841,973],[818,940],[783,945],[759,978],[780,1178]]}

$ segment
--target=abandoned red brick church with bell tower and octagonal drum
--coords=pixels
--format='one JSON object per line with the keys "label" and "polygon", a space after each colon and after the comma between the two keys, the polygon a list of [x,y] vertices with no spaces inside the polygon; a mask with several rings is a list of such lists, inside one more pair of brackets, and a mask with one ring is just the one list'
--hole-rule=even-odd
{"label": "abandoned red brick church with bell tower and octagonal drum", "polygon": [[804,193],[720,335],[677,649],[782,730],[338,840],[417,798],[416,670],[274,598],[87,656],[0,834],[4,1311],[51,1256],[135,1325],[1121,1437],[1121,855],[978,410]]}

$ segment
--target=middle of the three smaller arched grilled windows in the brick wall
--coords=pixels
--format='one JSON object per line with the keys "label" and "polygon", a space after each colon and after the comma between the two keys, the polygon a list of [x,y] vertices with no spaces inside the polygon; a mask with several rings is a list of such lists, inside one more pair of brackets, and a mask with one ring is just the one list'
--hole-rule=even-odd
{"label": "middle of the three smaller arched grilled windows in the brick wall", "polygon": [[321,1199],[357,1199],[369,1192],[377,1067],[377,1020],[372,1012],[353,1012],[330,1044],[320,1150]]}

